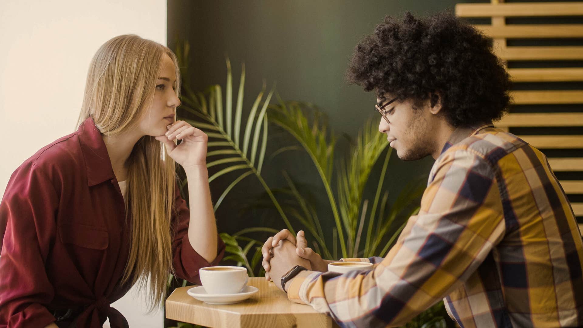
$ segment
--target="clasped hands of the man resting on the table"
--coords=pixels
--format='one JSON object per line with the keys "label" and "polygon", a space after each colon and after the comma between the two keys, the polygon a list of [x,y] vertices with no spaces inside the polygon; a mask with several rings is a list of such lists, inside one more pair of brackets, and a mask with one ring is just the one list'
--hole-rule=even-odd
{"label": "clasped hands of the man resting on the table", "polygon": [[[279,289],[282,289],[280,283],[282,276],[294,266],[299,265],[308,270],[326,272],[328,263],[332,262],[323,260],[318,253],[308,247],[304,232],[301,230],[298,231],[296,238],[287,229],[269,237],[261,253],[263,254],[262,264],[266,271],[265,278],[273,280]],[[287,282],[286,289],[290,284],[291,281]]]}

